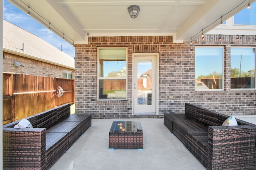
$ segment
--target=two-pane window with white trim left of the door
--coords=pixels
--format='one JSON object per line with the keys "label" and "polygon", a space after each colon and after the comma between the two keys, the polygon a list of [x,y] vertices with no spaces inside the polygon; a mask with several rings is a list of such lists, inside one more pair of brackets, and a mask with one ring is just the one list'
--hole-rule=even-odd
{"label": "two-pane window with white trim left of the door", "polygon": [[127,48],[98,48],[98,99],[127,100]]}

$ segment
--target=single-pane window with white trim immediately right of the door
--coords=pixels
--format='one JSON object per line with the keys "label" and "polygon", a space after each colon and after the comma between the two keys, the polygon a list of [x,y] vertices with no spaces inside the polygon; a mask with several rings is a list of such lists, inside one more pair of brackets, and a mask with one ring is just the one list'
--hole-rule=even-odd
{"label": "single-pane window with white trim immediately right of the door", "polygon": [[196,47],[195,89],[223,89],[223,47]]}

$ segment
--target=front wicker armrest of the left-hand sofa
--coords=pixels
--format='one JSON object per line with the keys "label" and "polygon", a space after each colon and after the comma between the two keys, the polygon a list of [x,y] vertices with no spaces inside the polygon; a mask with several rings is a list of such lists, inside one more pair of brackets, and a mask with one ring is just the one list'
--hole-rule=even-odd
{"label": "front wicker armrest of the left-hand sofa", "polygon": [[46,128],[3,128],[4,169],[44,169]]}

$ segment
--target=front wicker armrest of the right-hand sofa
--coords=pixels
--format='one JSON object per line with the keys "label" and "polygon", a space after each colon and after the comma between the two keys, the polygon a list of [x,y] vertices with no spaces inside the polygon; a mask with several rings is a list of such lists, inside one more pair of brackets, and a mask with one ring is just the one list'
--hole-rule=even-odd
{"label": "front wicker armrest of the right-hand sofa", "polygon": [[208,169],[254,169],[255,127],[210,126],[208,132]]}

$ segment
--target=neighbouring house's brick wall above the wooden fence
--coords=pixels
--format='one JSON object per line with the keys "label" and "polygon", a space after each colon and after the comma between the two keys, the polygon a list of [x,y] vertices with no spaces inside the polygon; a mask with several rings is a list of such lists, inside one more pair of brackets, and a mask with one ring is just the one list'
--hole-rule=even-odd
{"label": "neighbouring house's brick wall above the wooden fence", "polygon": [[[14,61],[20,62],[20,67],[14,66]],[[3,71],[15,72],[19,74],[29,74],[34,76],[58,77],[62,78],[62,70],[70,70],[54,64],[44,63],[41,61],[20,57],[10,53],[3,54]],[[72,75],[74,75],[74,70]]]}

